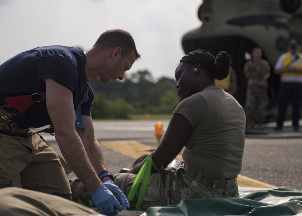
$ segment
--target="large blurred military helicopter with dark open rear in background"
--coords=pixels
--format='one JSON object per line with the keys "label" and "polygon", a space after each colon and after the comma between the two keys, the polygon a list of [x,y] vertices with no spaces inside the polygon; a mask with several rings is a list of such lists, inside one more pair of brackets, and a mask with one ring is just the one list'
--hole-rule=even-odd
{"label": "large blurred military helicopter with dark open rear in background", "polygon": [[[213,55],[228,52],[237,75],[235,98],[241,105],[246,95],[243,65],[252,48],[261,47],[273,69],[278,57],[287,52],[288,41],[302,43],[302,0],[203,0],[198,18],[202,25],[183,36],[183,49],[185,53],[202,49]],[[272,70],[269,107],[276,104],[279,79]]]}

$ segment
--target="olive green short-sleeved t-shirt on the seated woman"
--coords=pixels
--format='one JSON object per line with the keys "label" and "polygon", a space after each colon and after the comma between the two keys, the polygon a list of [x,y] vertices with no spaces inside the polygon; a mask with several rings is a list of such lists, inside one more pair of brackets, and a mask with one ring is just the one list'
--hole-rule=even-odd
{"label": "olive green short-sleeved t-shirt on the seated woman", "polygon": [[174,113],[185,116],[193,127],[182,153],[186,163],[217,180],[240,173],[246,117],[234,97],[212,85],[182,100]]}

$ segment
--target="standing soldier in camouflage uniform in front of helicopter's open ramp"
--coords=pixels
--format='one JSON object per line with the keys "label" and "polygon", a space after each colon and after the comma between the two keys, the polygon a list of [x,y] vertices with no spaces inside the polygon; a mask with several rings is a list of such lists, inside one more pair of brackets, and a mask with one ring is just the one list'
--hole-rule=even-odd
{"label": "standing soldier in camouflage uniform in front of helicopter's open ramp", "polygon": [[268,106],[267,79],[271,74],[271,67],[268,61],[262,59],[262,49],[254,47],[252,60],[244,64],[243,72],[248,79],[245,113],[248,122],[246,129],[252,129],[254,115],[257,112],[258,130],[262,130],[262,123],[265,120],[265,109]]}

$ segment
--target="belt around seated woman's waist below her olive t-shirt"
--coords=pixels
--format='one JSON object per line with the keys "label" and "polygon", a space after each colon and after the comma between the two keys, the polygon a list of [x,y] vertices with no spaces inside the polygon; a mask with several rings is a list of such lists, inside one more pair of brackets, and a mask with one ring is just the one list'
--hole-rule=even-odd
{"label": "belt around seated woman's waist below her olive t-shirt", "polygon": [[237,180],[237,176],[232,179],[226,180],[216,180],[212,178],[207,178],[202,173],[198,172],[196,169],[185,163],[184,169],[188,175],[190,175],[194,180],[200,182],[202,185],[205,185],[209,188],[214,189],[227,189],[232,187]]}

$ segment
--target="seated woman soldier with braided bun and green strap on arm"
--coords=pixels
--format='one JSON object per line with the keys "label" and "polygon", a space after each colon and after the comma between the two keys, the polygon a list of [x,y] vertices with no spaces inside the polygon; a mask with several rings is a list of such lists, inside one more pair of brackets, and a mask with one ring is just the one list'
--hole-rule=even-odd
{"label": "seated woman soldier with braided bun and green strap on arm", "polygon": [[[239,103],[214,83],[228,76],[230,64],[226,52],[215,58],[203,50],[180,60],[175,78],[183,100],[173,111],[162,141],[128,173],[114,175],[131,207],[238,196],[236,179],[242,167],[246,117]],[[165,169],[183,148],[184,164],[177,170]]]}

